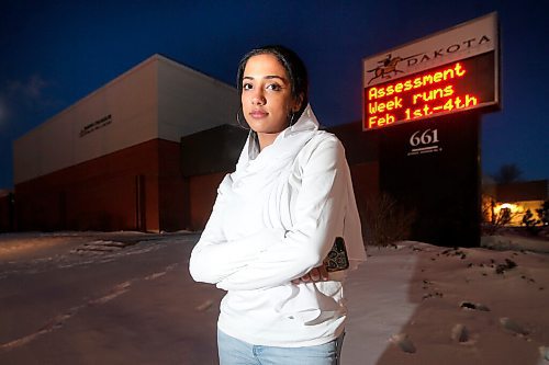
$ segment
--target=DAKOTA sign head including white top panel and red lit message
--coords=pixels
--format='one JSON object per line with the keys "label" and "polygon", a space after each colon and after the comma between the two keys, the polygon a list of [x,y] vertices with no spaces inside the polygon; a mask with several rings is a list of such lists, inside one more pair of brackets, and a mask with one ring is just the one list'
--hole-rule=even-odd
{"label": "DAKOTA sign head including white top panel and red lit message", "polygon": [[490,14],[366,59],[362,129],[498,104],[495,21]]}

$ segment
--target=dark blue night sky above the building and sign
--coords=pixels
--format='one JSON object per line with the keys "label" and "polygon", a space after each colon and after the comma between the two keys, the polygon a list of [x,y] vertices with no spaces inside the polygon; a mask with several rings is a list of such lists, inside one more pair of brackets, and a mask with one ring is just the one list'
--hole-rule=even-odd
{"label": "dark blue night sky above the building and sign", "polygon": [[[421,3],[421,5],[418,4]],[[325,126],[361,118],[362,58],[497,11],[502,110],[482,123],[482,167],[549,178],[549,21],[542,1],[2,1],[0,189],[12,141],[121,73],[161,54],[234,85],[253,47],[304,59]],[[227,121],[227,123],[231,121]]]}

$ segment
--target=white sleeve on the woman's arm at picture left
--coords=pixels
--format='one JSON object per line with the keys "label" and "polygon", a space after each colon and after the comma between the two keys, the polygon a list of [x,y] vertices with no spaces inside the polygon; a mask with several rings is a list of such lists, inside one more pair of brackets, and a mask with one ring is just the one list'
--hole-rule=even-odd
{"label": "white sleeve on the woman's arm at picture left", "polygon": [[221,215],[225,212],[222,186],[228,179],[225,176],[221,183],[210,219],[191,252],[189,272],[197,282],[219,283],[257,259],[266,246],[284,237],[283,229],[264,229],[238,240],[225,238],[221,226]]}

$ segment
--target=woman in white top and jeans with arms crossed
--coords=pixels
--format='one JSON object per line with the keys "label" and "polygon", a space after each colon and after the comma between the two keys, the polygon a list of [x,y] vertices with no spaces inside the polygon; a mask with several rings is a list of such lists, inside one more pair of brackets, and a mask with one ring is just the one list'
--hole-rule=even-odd
{"label": "woman in white top and jeans with arms crossed", "polygon": [[336,238],[350,269],[366,259],[344,148],[318,130],[290,49],[251,50],[237,82],[250,133],[189,265],[195,281],[227,290],[220,363],[339,364],[346,271],[328,275],[323,262]]}

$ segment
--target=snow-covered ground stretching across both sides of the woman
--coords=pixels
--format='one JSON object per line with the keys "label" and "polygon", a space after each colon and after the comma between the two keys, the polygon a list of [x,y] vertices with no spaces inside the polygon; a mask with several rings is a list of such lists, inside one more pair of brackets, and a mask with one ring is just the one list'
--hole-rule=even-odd
{"label": "snow-covered ground stretching across both sides of the woman", "polygon": [[[223,292],[190,278],[197,239],[0,235],[0,364],[216,364]],[[343,364],[549,365],[549,242],[483,246],[369,248]]]}

